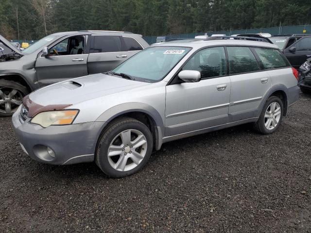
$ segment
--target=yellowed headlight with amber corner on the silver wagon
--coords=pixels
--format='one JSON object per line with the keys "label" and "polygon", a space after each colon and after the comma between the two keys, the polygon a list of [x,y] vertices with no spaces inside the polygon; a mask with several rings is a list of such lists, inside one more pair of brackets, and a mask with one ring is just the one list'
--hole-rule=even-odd
{"label": "yellowed headlight with amber corner on the silver wagon", "polygon": [[79,110],[48,111],[35,115],[31,123],[41,125],[44,128],[50,125],[70,125],[78,115]]}

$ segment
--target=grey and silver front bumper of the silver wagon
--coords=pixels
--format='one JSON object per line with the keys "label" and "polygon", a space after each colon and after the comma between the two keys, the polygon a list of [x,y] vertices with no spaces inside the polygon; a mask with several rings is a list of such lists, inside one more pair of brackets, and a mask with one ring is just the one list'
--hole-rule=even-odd
{"label": "grey and silver front bumper of the silver wagon", "polygon": [[[34,160],[68,165],[94,161],[97,139],[105,122],[50,126],[42,128],[27,119],[19,120],[19,111],[12,117],[14,132],[22,149]],[[47,153],[47,147],[54,151],[54,158]]]}

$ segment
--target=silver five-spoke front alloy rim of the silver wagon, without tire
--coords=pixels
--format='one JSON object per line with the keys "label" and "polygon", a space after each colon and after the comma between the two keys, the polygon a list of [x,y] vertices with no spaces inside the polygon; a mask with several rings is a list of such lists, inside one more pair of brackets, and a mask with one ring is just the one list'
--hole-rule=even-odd
{"label": "silver five-spoke front alloy rim of the silver wagon, without tire", "polygon": [[129,171],[138,166],[147,152],[147,140],[138,130],[125,130],[119,133],[108,148],[110,166],[118,171]]}

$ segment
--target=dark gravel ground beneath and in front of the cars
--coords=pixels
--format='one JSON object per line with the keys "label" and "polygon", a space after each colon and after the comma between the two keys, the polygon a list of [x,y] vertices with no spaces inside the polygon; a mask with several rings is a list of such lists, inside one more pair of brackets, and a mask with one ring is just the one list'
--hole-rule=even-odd
{"label": "dark gravel ground beneath and in front of the cars", "polygon": [[137,174],[50,166],[0,118],[0,232],[311,232],[311,96],[278,132],[250,125],[163,145]]}

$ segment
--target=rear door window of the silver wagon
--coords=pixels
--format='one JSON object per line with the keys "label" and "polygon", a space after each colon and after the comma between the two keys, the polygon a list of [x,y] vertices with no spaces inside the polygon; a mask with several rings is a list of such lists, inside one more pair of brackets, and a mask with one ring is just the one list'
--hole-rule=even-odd
{"label": "rear door window of the silver wagon", "polygon": [[259,64],[248,47],[227,47],[230,74],[259,70]]}

